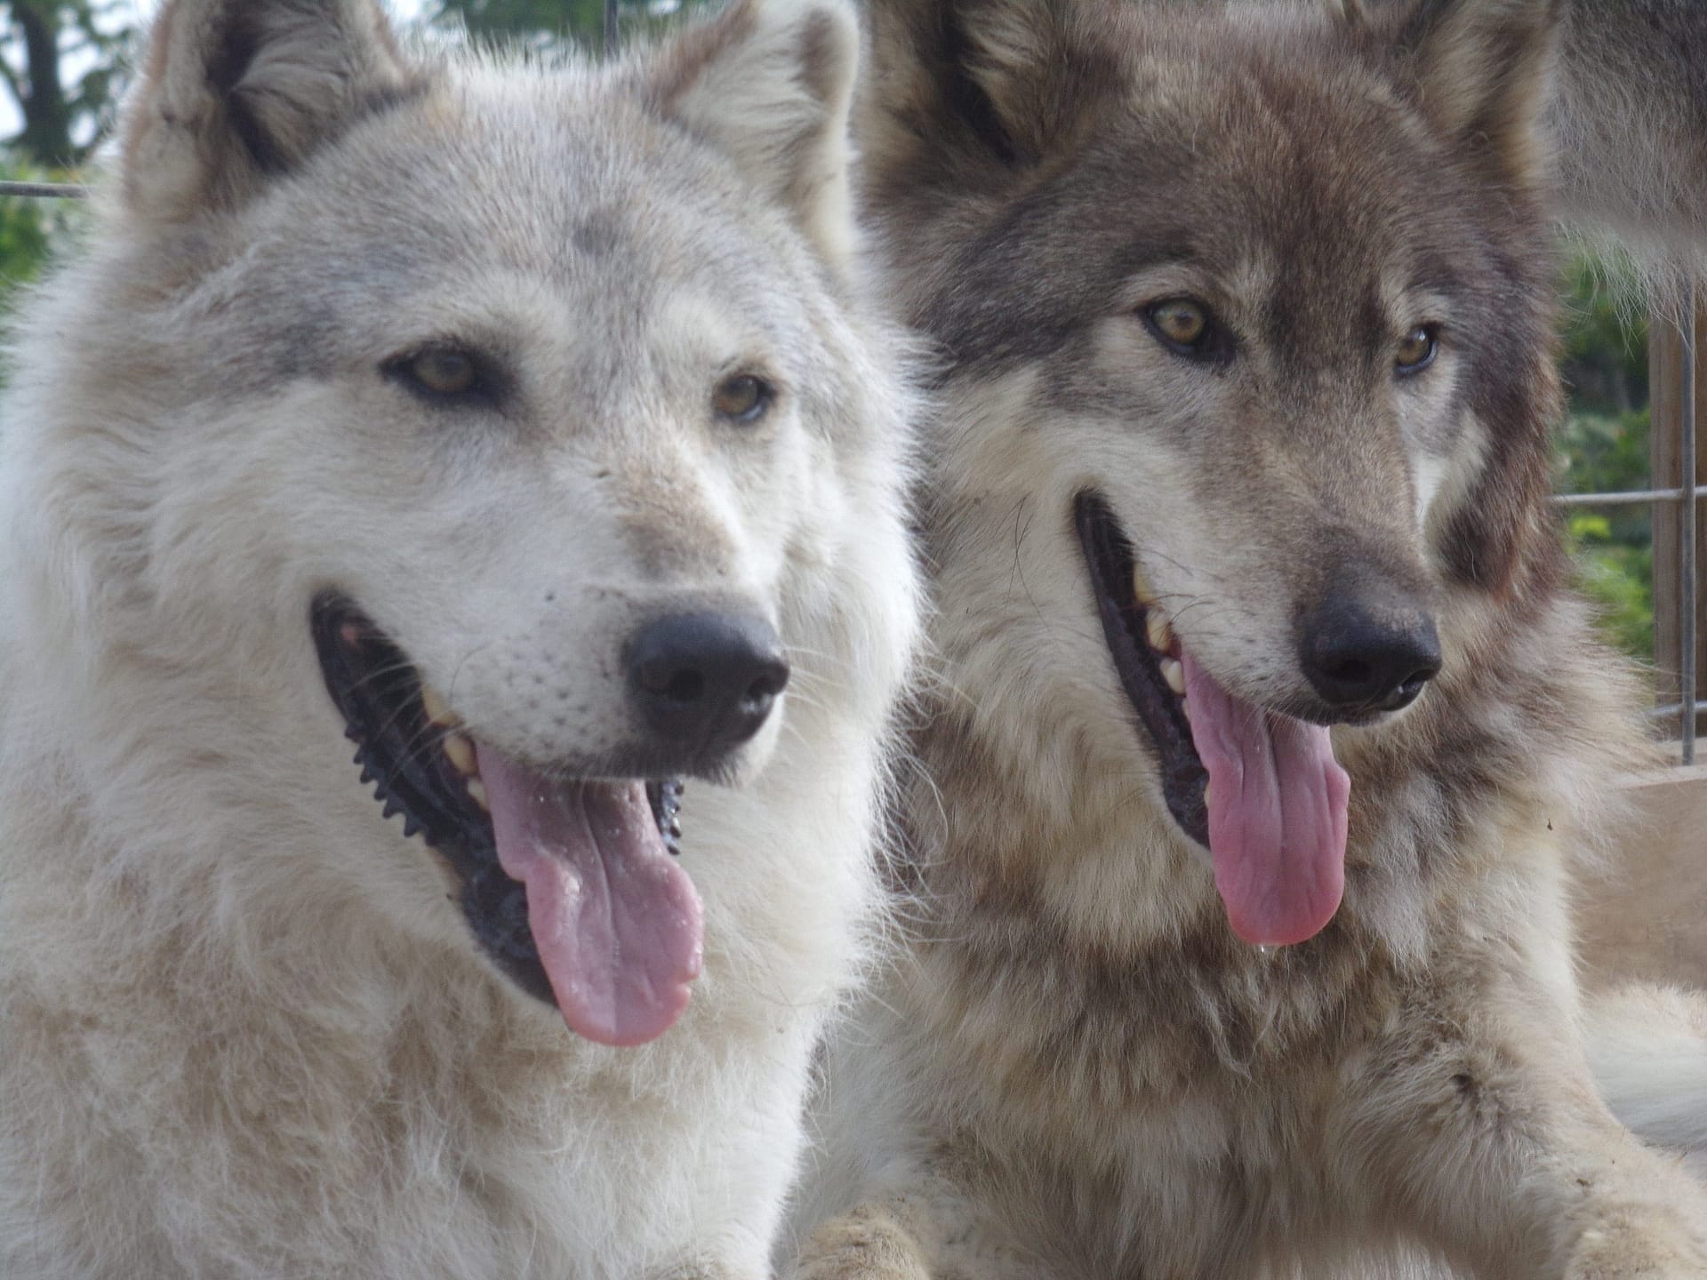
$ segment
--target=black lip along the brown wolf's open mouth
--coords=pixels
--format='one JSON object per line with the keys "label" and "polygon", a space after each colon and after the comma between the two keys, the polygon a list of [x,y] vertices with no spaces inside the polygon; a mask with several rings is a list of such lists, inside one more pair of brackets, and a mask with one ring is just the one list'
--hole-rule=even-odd
{"label": "black lip along the brown wolf's open mouth", "polygon": [[1209,848],[1209,807],[1203,802],[1209,773],[1191,742],[1191,725],[1180,700],[1168,688],[1145,638],[1147,609],[1132,592],[1132,544],[1108,502],[1098,493],[1081,493],[1074,500],[1074,527],[1091,572],[1091,594],[1103,620],[1115,674],[1120,676],[1139,724],[1156,746],[1168,812],[1185,835]]}

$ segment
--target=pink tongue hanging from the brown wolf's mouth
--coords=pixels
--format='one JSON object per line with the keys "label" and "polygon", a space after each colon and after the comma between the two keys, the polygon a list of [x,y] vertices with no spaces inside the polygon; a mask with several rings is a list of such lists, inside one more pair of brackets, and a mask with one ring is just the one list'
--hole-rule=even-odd
{"label": "pink tongue hanging from the brown wolf's mouth", "polygon": [[1232,932],[1289,945],[1314,937],[1345,891],[1352,780],[1328,730],[1241,701],[1181,654],[1191,741],[1209,770],[1209,853]]}

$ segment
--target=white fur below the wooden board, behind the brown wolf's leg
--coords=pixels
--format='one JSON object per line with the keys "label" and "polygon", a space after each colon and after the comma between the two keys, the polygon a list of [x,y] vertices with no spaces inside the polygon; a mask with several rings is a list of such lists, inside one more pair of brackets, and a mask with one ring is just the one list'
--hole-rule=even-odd
{"label": "white fur below the wooden board, behind the brown wolf's leg", "polygon": [[1707,995],[1632,985],[1589,998],[1589,1065],[1613,1114],[1707,1174]]}

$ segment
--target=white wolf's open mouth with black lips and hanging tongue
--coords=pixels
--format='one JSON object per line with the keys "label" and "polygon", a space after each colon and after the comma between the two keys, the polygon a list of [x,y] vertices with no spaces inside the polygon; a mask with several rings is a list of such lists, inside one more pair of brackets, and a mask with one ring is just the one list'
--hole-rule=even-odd
{"label": "white wolf's open mouth with black lips and hanging tongue", "polygon": [[608,1044],[662,1034],[700,968],[700,901],[676,865],[681,778],[565,778],[473,737],[350,599],[318,596],[321,672],[362,782],[463,886],[480,945]]}

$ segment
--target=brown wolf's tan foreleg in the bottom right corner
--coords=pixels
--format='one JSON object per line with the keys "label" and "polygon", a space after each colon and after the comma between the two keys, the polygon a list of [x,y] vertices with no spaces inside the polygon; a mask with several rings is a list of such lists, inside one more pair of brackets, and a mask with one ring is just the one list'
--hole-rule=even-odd
{"label": "brown wolf's tan foreleg in the bottom right corner", "polygon": [[1345,1167],[1489,1280],[1707,1280],[1707,1190],[1613,1120],[1570,1010],[1524,995],[1437,1005],[1437,1038],[1367,1063]]}

